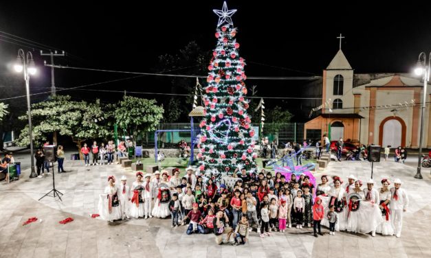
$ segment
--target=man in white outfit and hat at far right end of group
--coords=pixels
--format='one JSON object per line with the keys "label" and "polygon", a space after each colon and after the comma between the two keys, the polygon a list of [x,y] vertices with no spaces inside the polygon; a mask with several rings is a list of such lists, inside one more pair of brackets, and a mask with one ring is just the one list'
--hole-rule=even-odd
{"label": "man in white outfit and hat at far right end of group", "polygon": [[401,189],[401,180],[399,178],[395,179],[394,186],[390,189],[390,217],[395,235],[401,237],[403,213],[407,211],[408,197],[406,191]]}

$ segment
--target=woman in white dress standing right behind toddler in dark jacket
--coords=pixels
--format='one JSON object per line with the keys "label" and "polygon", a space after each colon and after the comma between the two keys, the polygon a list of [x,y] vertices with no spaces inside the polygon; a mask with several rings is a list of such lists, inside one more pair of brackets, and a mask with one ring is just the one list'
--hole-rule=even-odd
{"label": "woman in white dress standing right behind toddler in dark jacket", "polygon": [[[335,207],[334,211],[337,215],[338,223],[335,224],[335,231],[344,231],[346,230],[347,224],[347,209],[344,209],[344,194],[346,191],[341,186],[342,180],[339,176],[333,176],[334,187],[328,193],[329,202],[327,207],[331,207],[332,205]],[[323,226],[329,227],[329,221],[327,216],[325,215],[321,224]]]}

